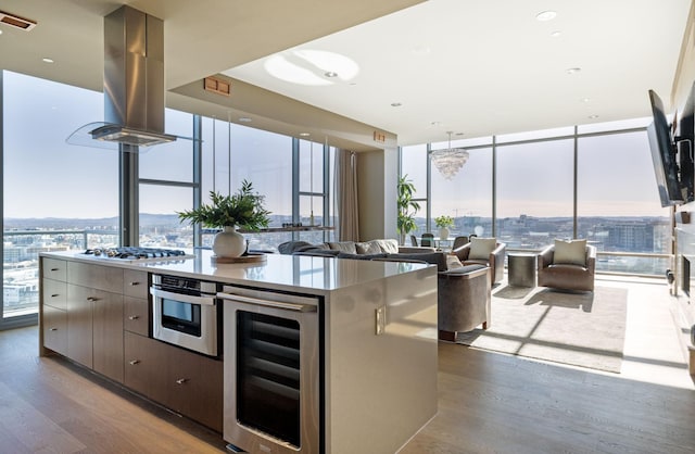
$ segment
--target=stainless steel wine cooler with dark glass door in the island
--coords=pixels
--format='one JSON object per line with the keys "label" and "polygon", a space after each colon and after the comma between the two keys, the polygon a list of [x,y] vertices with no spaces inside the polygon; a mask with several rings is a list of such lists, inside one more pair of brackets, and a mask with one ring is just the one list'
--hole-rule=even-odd
{"label": "stainless steel wine cooler with dark glass door in the island", "polygon": [[319,453],[317,298],[225,286],[225,440],[248,452]]}

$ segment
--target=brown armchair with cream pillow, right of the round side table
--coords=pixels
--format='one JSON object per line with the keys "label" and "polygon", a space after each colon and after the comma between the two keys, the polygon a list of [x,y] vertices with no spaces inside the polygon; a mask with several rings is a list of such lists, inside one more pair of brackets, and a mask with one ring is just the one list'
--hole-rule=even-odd
{"label": "brown armchair with cream pillow, right of the round side table", "polygon": [[538,260],[539,287],[563,290],[594,291],[594,274],[596,270],[596,248],[584,245],[579,258],[568,257],[563,252],[556,254],[558,243],[545,248]]}

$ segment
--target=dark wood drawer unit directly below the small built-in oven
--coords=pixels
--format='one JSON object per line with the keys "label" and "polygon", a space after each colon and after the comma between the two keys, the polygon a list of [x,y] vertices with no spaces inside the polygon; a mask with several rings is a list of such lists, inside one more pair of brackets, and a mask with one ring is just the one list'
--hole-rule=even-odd
{"label": "dark wood drawer unit directly below the small built-in oven", "polygon": [[128,388],[222,432],[222,361],[127,331],[125,351]]}

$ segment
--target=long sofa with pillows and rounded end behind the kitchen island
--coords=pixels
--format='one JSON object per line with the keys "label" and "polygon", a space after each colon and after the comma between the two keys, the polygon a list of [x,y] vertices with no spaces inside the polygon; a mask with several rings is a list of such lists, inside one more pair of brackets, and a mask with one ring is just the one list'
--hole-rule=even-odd
{"label": "long sofa with pillows and rounded end behind the kitchen island", "polygon": [[320,244],[289,241],[280,244],[278,251],[292,255],[437,265],[439,339],[453,342],[456,340],[456,332],[470,331],[480,325],[483,329],[490,327],[492,279],[491,268],[486,265],[464,265],[454,254],[427,247],[399,247],[396,240]]}

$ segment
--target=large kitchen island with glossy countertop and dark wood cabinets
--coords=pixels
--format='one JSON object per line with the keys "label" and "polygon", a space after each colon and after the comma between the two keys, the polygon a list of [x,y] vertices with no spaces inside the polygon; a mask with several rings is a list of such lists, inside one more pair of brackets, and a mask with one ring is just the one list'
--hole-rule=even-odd
{"label": "large kitchen island with glossy countertop and dark wood cabinets", "polygon": [[[235,380],[225,363],[231,353],[225,346],[223,355],[211,358],[152,339],[147,290],[153,275],[317,302],[319,381],[313,391],[318,395],[318,423],[316,440],[303,440],[300,444],[311,449],[301,452],[393,453],[437,413],[437,270],[422,264],[279,254],[268,254],[258,264],[216,264],[205,250],[185,258],[132,262],[42,253],[41,354],[62,354],[222,431],[222,409],[210,413],[206,405],[229,405],[230,398],[220,393],[222,381],[227,387]],[[222,304],[224,311],[228,303]],[[231,331],[226,325],[222,330],[222,336]],[[225,345],[233,342],[226,339]],[[162,366],[162,356],[169,355],[175,360]],[[148,364],[149,371],[139,371]],[[212,370],[213,378],[195,392],[210,402],[181,398],[181,389],[197,380],[176,377],[194,377],[190,370],[172,375],[176,384],[168,391],[161,390],[163,382],[152,386],[163,380],[162,370],[175,366]],[[226,429],[224,437],[238,443]]]}

